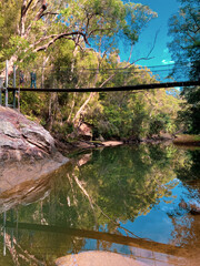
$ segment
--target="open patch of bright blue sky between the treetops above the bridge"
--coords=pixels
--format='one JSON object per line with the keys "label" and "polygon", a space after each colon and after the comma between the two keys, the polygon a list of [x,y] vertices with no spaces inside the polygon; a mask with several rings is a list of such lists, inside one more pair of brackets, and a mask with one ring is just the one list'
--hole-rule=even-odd
{"label": "open patch of bright blue sky between the treetops above the bridge", "polygon": [[[171,63],[171,54],[167,49],[167,42],[171,40],[168,35],[168,23],[170,17],[178,11],[180,3],[178,0],[132,0],[132,2],[140,2],[149,6],[158,13],[158,18],[152,19],[140,34],[139,41],[133,48],[131,61],[147,57],[148,52],[152,48],[156,33],[158,32],[156,45],[153,52],[151,53],[153,59],[148,61],[141,60],[137,62],[137,64],[151,66]],[[126,50],[124,47],[120,50],[121,61],[127,61],[130,51]]]}

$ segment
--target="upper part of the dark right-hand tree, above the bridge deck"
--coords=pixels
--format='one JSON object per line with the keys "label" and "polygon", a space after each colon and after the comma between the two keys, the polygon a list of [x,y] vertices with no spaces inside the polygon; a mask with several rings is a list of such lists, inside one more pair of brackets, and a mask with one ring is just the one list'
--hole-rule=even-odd
{"label": "upper part of the dark right-hand tree, above the bridge deck", "polygon": [[169,34],[173,38],[168,44],[172,59],[179,64],[192,64],[190,76],[199,78],[200,60],[200,16],[198,0],[179,0],[178,13],[169,21]]}

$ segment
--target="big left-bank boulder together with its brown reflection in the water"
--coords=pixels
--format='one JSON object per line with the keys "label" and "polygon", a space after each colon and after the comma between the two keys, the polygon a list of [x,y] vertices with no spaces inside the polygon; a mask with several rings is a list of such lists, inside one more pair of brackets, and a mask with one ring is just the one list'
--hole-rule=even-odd
{"label": "big left-bank boulder together with its brown reflection in the water", "polygon": [[43,196],[50,176],[68,162],[41,125],[0,106],[0,212]]}

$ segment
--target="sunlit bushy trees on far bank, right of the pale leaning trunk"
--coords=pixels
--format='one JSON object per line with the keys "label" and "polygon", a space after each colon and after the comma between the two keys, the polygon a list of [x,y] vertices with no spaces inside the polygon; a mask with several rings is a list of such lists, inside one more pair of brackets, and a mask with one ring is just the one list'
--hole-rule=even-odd
{"label": "sunlit bushy trees on far bank, right of the pale leaning trunk", "polygon": [[[130,83],[149,83],[152,76],[148,70],[140,70],[128,76],[123,71],[114,78],[112,85]],[[141,80],[141,74],[143,75]],[[120,137],[146,137],[160,132],[173,133],[177,130],[176,117],[179,110],[179,100],[166,94],[164,91],[152,91],[148,93],[132,92],[113,92],[100,93],[100,104],[103,106],[102,112],[97,119],[97,114],[86,113],[86,120],[90,119],[99,134],[106,139],[116,136]],[[96,119],[94,119],[96,116]],[[92,122],[91,122],[92,121]]]}

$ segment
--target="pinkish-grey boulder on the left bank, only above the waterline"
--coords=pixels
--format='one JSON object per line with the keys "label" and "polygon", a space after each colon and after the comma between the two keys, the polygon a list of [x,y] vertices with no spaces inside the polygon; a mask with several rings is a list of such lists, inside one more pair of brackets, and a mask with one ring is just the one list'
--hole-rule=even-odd
{"label": "pinkish-grey boulder on the left bank, only above the waterline", "polygon": [[0,161],[46,157],[56,152],[54,140],[41,125],[0,106]]}

